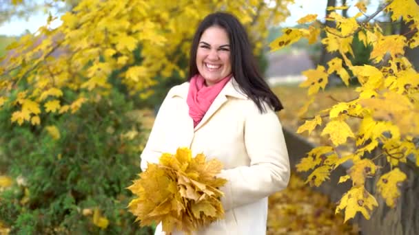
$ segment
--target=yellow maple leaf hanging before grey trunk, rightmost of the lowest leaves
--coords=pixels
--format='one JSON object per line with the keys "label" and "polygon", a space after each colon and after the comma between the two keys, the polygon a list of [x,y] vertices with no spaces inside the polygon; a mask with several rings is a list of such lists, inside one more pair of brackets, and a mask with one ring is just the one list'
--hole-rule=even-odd
{"label": "yellow maple leaf hanging before grey trunk, rightmost of the lowest leaves", "polygon": [[399,185],[401,182],[406,180],[406,174],[399,168],[394,168],[390,172],[382,175],[377,183],[378,192],[381,197],[385,199],[385,203],[390,207],[394,208],[396,205],[396,199],[400,197]]}

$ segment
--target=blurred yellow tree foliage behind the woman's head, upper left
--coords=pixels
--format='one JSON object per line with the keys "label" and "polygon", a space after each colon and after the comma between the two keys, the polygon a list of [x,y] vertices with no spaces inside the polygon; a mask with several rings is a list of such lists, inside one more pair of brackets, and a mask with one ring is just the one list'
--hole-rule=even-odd
{"label": "blurred yellow tree foliage behind the woman's head, upper left", "polygon": [[[174,71],[185,76],[187,68],[179,65],[189,54],[191,40],[187,38],[192,38],[204,16],[218,10],[235,14],[247,27],[256,46],[254,52],[259,54],[267,44],[268,28],[289,15],[286,6],[290,2],[77,1],[78,5],[61,16],[59,27],[40,27],[36,35],[26,34],[8,46],[14,56],[0,61],[0,108],[3,99],[12,98],[10,92],[3,91],[22,81],[28,88],[20,99],[37,102],[38,107],[45,107],[50,97],[63,96],[67,89],[94,100],[96,94],[109,92],[114,84],[111,78],[121,80],[131,96],[148,98],[155,78],[170,77]],[[141,48],[141,58],[133,53],[137,48]],[[120,72],[111,77],[112,71]],[[84,103],[76,101],[80,97],[60,99],[61,108],[48,104],[50,108],[43,112],[74,113]],[[12,122],[40,123],[37,118],[34,122],[32,115],[43,115],[19,110],[21,102],[17,100],[10,100],[17,108]]]}

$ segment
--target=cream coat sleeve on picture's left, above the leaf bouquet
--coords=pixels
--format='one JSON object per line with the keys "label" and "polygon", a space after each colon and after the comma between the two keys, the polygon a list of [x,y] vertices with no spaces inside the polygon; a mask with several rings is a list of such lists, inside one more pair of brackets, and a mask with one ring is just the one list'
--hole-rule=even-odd
{"label": "cream coat sleeve on picture's left, above the leaf bouquet", "polygon": [[159,163],[159,157],[161,156],[162,152],[160,151],[162,148],[159,146],[161,142],[159,139],[161,135],[164,134],[164,126],[163,126],[163,119],[165,115],[167,115],[167,107],[170,105],[170,91],[167,93],[165,100],[161,104],[159,111],[157,112],[156,118],[154,119],[154,124],[152,127],[152,131],[148,136],[147,143],[141,153],[141,170],[145,171],[147,169],[147,162],[157,164]]}

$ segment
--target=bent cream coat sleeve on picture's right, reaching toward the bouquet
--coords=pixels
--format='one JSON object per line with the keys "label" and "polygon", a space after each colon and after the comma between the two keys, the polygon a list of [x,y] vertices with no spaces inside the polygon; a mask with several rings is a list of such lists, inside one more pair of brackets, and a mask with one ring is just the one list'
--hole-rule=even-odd
{"label": "bent cream coat sleeve on picture's right, reaching toward the bouquet", "polygon": [[287,187],[290,175],[282,126],[274,111],[252,111],[245,120],[245,146],[249,166],[222,170],[227,179],[221,190],[225,210],[254,203]]}

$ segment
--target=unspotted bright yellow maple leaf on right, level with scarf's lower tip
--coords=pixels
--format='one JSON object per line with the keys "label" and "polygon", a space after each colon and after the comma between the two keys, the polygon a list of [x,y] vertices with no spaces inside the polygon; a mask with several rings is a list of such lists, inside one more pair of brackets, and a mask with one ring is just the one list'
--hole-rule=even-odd
{"label": "unspotted bright yellow maple leaf on right, level with scarf's lower tip", "polygon": [[348,124],[342,120],[333,120],[327,123],[321,135],[327,134],[330,135],[330,140],[335,146],[345,144],[348,137],[355,137]]}

